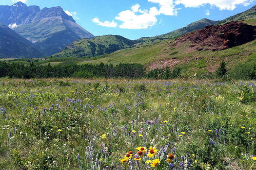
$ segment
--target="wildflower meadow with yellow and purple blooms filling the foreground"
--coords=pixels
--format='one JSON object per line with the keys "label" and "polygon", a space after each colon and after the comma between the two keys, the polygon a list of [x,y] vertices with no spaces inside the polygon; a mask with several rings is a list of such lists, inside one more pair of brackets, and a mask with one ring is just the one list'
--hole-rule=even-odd
{"label": "wildflower meadow with yellow and purple blooms filling the foreground", "polygon": [[0,79],[1,170],[256,170],[256,82]]}

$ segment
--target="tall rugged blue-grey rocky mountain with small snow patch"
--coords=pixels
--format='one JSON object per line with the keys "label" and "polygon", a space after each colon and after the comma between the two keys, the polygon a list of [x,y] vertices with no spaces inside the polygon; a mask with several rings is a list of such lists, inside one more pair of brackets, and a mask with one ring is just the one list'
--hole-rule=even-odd
{"label": "tall rugged blue-grey rocky mountain with small snow patch", "polygon": [[30,40],[43,56],[60,51],[76,39],[94,37],[60,6],[40,10],[39,6],[20,1],[11,6],[0,5],[0,21]]}

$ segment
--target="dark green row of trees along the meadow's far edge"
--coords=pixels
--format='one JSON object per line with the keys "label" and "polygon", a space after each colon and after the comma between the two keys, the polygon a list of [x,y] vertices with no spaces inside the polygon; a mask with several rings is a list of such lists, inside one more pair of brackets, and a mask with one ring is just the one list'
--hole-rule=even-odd
{"label": "dark green row of trees along the meadow's far edge", "polygon": [[77,78],[154,78],[170,79],[180,75],[180,68],[172,72],[169,68],[156,68],[146,72],[141,64],[120,63],[113,64],[59,64],[51,66],[37,66],[33,62],[29,65],[21,63],[7,63],[0,61],[0,77],[9,78],[53,78],[53,77],[77,77]]}

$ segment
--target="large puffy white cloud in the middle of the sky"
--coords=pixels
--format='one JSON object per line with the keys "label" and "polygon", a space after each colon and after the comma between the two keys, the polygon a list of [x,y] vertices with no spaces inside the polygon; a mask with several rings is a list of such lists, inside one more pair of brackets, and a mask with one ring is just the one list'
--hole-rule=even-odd
{"label": "large puffy white cloud in the middle of the sky", "polygon": [[[122,11],[118,14],[115,19],[123,21],[119,28],[123,29],[147,29],[148,27],[154,26],[159,15],[158,9],[156,7],[150,8],[149,12],[139,12],[139,4],[132,6],[131,10]],[[136,15],[135,13],[143,13],[141,15]]]}

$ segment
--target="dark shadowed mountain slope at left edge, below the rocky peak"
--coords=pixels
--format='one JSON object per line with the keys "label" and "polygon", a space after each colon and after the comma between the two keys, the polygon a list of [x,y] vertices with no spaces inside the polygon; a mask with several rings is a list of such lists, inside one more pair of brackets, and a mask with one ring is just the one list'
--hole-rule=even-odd
{"label": "dark shadowed mountain slope at left edge, below the rocky peak", "polygon": [[0,22],[0,58],[32,58],[40,52],[31,47],[32,42]]}

